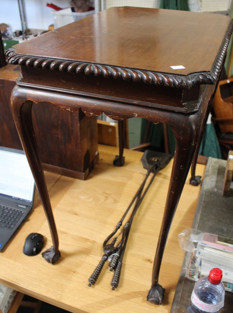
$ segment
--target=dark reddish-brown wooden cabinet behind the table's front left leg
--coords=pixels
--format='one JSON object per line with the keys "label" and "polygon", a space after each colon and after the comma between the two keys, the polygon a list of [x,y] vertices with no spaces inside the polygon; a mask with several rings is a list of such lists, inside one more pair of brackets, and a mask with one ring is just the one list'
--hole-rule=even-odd
{"label": "dark reddish-brown wooden cabinet behind the table's front left leg", "polygon": [[[0,146],[22,150],[10,109],[18,74],[18,65],[0,69]],[[44,170],[85,179],[99,159],[96,119],[81,110],[71,114],[47,102],[33,105],[32,117]]]}

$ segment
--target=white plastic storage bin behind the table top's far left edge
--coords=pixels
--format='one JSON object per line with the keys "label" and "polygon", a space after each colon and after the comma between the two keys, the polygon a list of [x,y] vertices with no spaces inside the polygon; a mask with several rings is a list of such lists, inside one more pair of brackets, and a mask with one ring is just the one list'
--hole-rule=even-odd
{"label": "white plastic storage bin behind the table top's far left edge", "polygon": [[58,28],[78,21],[80,18],[85,18],[88,15],[94,14],[95,10],[87,12],[72,12],[71,8],[67,8],[60,11],[53,11],[52,13],[54,16],[54,28]]}

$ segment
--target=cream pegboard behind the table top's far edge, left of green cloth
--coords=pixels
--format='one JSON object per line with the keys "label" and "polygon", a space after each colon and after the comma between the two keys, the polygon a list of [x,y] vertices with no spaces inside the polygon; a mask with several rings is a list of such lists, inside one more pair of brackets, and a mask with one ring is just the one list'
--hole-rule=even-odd
{"label": "cream pegboard behind the table top's far edge, left of green cloth", "polygon": [[160,0],[105,0],[105,8],[131,6],[141,8],[158,8]]}

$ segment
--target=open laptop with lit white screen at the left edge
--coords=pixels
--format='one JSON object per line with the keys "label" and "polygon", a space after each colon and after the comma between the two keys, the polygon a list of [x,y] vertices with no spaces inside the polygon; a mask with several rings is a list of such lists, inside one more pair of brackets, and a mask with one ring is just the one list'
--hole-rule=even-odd
{"label": "open laptop with lit white screen at the left edge", "polygon": [[0,146],[0,251],[33,208],[35,182],[24,151]]}

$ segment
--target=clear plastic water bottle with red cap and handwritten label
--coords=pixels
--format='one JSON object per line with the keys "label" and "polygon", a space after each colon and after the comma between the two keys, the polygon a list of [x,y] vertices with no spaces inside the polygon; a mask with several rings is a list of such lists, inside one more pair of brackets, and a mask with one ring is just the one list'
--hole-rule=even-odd
{"label": "clear plastic water bottle with red cap and handwritten label", "polygon": [[221,269],[211,269],[209,276],[199,279],[191,295],[188,313],[217,313],[224,306],[225,287]]}

